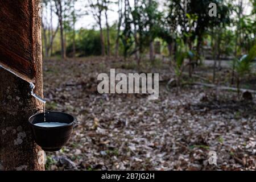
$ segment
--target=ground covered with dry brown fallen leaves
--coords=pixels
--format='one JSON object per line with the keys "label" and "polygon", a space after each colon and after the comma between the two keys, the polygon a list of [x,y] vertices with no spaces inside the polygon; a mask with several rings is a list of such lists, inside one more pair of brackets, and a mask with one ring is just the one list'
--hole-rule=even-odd
{"label": "ground covered with dry brown fallen leaves", "polygon": [[[159,73],[158,100],[97,92],[99,73],[137,72],[122,60],[44,61],[47,109],[80,122],[65,147],[47,152],[48,170],[256,169],[255,99],[189,84],[177,92],[166,88],[172,78],[168,64],[148,67],[144,72]],[[217,166],[209,165],[209,151],[216,151]]]}

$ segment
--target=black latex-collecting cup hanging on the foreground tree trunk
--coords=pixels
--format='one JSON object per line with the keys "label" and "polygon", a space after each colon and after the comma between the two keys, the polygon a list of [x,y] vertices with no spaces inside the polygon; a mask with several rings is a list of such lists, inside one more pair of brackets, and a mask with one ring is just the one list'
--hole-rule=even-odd
{"label": "black latex-collecting cup hanging on the foreground tree trunk", "polygon": [[67,123],[67,125],[56,127],[36,126],[36,123],[44,122],[44,113],[32,115],[28,119],[28,122],[30,123],[35,142],[44,151],[57,151],[68,142],[71,137],[73,125],[77,121],[70,114],[54,111],[46,112],[46,122]]}

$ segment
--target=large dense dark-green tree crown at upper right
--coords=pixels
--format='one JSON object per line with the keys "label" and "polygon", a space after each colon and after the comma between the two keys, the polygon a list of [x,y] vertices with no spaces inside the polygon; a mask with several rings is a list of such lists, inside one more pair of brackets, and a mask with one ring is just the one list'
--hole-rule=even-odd
{"label": "large dense dark-green tree crown at upper right", "polygon": [[[208,15],[210,3],[216,3],[217,17]],[[200,46],[205,33],[213,27],[230,23],[230,12],[223,0],[173,0],[168,1],[167,6],[167,16],[162,20],[160,37],[168,44],[175,42],[177,38],[183,39],[189,49],[193,49],[196,43],[196,60],[201,59]]]}

